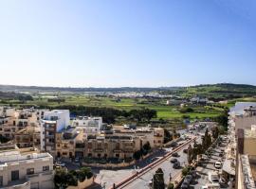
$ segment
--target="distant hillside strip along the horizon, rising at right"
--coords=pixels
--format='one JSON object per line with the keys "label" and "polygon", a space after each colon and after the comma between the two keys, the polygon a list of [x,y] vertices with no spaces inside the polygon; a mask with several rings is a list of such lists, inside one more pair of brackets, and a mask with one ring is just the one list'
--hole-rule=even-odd
{"label": "distant hillside strip along the horizon, rising at right", "polygon": [[[212,98],[213,100],[233,99],[256,95],[256,86],[246,84],[206,84],[189,87],[159,87],[159,88],[70,88],[70,87],[39,87],[0,85],[0,91],[11,93],[124,93],[124,92],[160,92],[161,94],[175,94],[185,97],[195,95]],[[5,95],[3,95],[5,96]]]}

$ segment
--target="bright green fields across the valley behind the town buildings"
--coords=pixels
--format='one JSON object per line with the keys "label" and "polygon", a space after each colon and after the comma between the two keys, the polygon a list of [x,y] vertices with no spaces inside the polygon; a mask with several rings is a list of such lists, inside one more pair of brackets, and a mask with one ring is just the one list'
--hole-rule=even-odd
{"label": "bright green fields across the valley behind the town buildings", "polygon": [[[88,96],[82,94],[70,94],[62,95],[64,102],[60,104],[57,102],[48,102],[45,97],[34,97],[33,101],[27,101],[26,105],[33,106],[60,106],[60,105],[75,105],[75,106],[87,106],[87,107],[107,107],[114,108],[124,111],[130,111],[133,109],[148,108],[157,112],[157,118],[172,120],[174,118],[182,118],[187,115],[192,119],[194,118],[210,118],[218,116],[223,110],[220,108],[211,107],[192,107],[194,112],[181,113],[179,112],[179,106],[167,106],[165,105],[166,100],[154,99],[148,100],[145,98],[113,98],[113,97],[102,97],[102,96]],[[9,103],[13,105],[20,105],[19,101],[11,100]]]}

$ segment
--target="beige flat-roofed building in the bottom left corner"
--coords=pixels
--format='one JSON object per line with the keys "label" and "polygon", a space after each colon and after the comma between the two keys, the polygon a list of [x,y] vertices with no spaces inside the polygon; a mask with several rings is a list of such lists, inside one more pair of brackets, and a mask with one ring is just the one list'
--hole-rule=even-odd
{"label": "beige flat-roofed building in the bottom left corner", "polygon": [[0,145],[0,187],[53,189],[53,158],[34,148]]}

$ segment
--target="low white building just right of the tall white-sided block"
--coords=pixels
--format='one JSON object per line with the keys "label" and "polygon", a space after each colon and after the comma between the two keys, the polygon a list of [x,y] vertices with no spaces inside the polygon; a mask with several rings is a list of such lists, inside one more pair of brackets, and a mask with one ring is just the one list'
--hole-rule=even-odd
{"label": "low white building just right of the tall white-sided block", "polygon": [[82,129],[83,133],[97,133],[102,128],[102,118],[80,116],[73,120],[72,126]]}

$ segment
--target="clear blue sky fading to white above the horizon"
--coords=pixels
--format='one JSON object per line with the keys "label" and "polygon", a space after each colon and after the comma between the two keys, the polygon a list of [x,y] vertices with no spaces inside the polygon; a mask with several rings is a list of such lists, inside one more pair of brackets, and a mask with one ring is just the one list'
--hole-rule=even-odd
{"label": "clear blue sky fading to white above the horizon", "polygon": [[0,0],[0,84],[256,85],[255,0]]}

